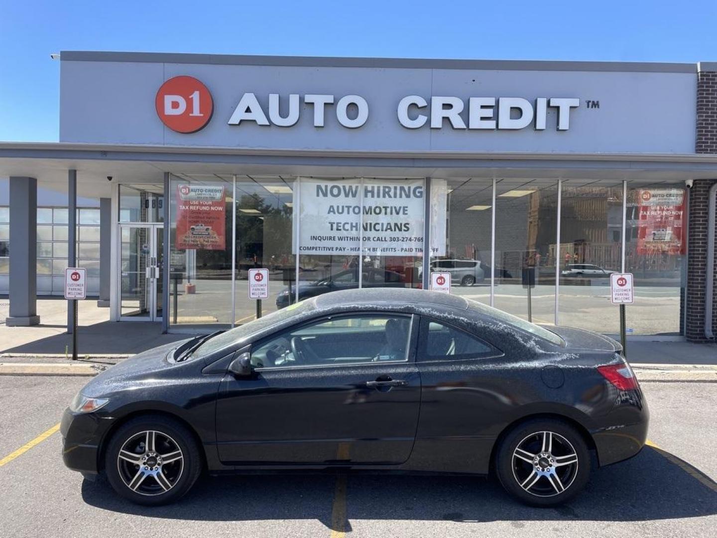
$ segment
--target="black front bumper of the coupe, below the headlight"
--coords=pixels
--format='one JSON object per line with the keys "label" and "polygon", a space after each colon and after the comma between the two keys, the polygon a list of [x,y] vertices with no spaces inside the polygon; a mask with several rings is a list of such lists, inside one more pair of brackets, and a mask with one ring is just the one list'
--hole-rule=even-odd
{"label": "black front bumper of the coupe, below the headlight", "polygon": [[112,420],[93,413],[77,414],[65,409],[60,423],[62,461],[72,471],[96,474],[100,471],[100,445]]}

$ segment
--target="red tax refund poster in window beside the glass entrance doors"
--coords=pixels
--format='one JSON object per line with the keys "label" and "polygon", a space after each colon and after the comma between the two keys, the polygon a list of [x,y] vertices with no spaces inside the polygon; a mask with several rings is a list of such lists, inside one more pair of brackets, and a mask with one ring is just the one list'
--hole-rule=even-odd
{"label": "red tax refund poster in window beside the glass entrance doors", "polygon": [[176,248],[224,250],[224,186],[177,187]]}

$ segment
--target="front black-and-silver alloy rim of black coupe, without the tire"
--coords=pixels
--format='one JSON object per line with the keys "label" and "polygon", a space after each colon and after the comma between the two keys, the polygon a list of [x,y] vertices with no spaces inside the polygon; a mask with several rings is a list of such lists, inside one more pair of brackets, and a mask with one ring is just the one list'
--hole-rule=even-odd
{"label": "front black-and-silver alloy rim of black coupe, without the tire", "polygon": [[120,478],[141,495],[161,495],[174,488],[184,471],[184,454],[166,433],[145,430],[125,440],[117,456]]}

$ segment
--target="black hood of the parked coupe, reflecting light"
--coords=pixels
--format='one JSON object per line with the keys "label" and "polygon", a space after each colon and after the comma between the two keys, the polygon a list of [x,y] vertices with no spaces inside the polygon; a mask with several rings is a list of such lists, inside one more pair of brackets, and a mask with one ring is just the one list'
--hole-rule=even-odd
{"label": "black hood of the parked coupe, reflecting light", "polygon": [[176,341],[148,349],[130,359],[125,359],[92,378],[92,381],[87,383],[80,392],[89,397],[102,397],[111,392],[127,389],[129,388],[128,384],[136,382],[138,379],[152,379],[159,377],[168,369],[179,368],[184,363],[168,362],[166,356],[172,349],[181,346],[185,341]]}

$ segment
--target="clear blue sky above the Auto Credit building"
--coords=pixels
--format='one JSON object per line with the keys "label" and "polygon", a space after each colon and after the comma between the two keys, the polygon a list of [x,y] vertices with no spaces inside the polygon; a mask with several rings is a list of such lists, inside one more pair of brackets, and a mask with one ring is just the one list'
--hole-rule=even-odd
{"label": "clear blue sky above the Auto Credit building", "polygon": [[717,61],[717,1],[0,0],[0,141],[57,141],[60,50]]}

